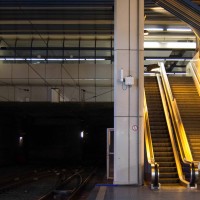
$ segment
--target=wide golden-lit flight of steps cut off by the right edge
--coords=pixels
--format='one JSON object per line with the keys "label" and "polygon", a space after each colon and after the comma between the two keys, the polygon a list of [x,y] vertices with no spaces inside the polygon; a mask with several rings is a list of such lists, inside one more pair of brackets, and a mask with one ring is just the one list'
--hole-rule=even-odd
{"label": "wide golden-lit flight of steps cut off by the right edge", "polygon": [[168,77],[194,160],[200,160],[200,96],[192,77]]}

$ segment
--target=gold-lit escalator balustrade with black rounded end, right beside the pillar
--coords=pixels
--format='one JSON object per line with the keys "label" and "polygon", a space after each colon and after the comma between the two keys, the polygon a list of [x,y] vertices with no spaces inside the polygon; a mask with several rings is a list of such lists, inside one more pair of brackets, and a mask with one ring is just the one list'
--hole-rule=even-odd
{"label": "gold-lit escalator balustrade with black rounded end, right beside the pillar", "polygon": [[151,189],[159,189],[159,164],[155,162],[153,144],[151,139],[151,131],[149,125],[148,108],[146,103],[146,96],[144,92],[144,136],[147,152],[147,160],[151,170]]}

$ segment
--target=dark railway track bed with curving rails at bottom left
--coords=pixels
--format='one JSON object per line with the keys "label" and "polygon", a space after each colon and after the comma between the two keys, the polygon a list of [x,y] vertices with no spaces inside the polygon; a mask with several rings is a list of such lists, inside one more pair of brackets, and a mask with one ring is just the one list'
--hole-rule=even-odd
{"label": "dark railway track bed with curving rails at bottom left", "polygon": [[[1,200],[79,199],[95,169],[46,169],[0,181]],[[17,177],[17,178],[16,178]]]}

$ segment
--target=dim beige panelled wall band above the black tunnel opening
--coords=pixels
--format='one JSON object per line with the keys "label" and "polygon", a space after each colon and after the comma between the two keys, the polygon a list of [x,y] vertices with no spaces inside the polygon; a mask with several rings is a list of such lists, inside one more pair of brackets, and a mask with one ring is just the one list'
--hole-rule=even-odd
{"label": "dim beige panelled wall band above the black tunnel opening", "polygon": [[1,64],[0,101],[113,101],[112,64]]}

